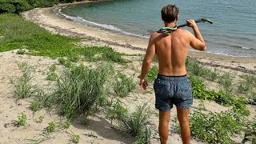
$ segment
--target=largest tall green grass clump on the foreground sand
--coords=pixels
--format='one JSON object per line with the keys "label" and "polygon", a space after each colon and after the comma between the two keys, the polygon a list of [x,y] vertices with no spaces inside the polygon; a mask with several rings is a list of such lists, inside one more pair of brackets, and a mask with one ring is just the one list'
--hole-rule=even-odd
{"label": "largest tall green grass clump on the foreground sand", "polygon": [[57,79],[54,93],[47,98],[60,114],[72,118],[75,114],[94,114],[106,102],[110,65],[96,68],[73,66]]}

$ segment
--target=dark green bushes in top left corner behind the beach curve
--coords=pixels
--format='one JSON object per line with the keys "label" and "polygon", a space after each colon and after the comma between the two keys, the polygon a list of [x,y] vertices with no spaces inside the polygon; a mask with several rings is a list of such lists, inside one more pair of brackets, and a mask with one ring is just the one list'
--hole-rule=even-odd
{"label": "dark green bushes in top left corner behind the beach curve", "polygon": [[1,13],[20,13],[36,7],[54,6],[60,2],[74,2],[82,0],[0,0]]}

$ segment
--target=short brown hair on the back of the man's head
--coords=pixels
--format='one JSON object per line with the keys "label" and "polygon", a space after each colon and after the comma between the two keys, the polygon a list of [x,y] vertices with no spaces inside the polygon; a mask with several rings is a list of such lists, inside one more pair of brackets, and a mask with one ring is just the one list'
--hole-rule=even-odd
{"label": "short brown hair on the back of the man's head", "polygon": [[170,23],[174,22],[175,18],[178,17],[178,7],[175,5],[164,6],[161,10],[162,20]]}

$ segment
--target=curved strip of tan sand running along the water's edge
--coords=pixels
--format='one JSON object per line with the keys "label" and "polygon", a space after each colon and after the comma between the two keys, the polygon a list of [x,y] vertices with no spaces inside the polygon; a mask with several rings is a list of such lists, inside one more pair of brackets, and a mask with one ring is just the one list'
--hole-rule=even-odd
{"label": "curved strip of tan sand running along the water's edge", "polygon": [[[114,50],[126,54],[145,54],[148,39],[138,38],[110,30],[101,30],[93,26],[82,25],[68,18],[61,18],[58,14],[54,14],[56,7],[72,6],[86,2],[83,1],[67,4],[60,4],[50,8],[36,8],[22,13],[22,16],[31,22],[37,23],[39,26],[50,30],[55,34],[63,34],[79,38],[86,38],[90,42],[82,42],[86,45],[111,46]],[[89,43],[89,44],[88,44]],[[252,57],[235,57],[223,54],[210,54],[200,51],[189,51],[189,57],[195,58],[203,65],[222,67],[230,70],[239,70],[249,74],[256,74],[256,58]]]}

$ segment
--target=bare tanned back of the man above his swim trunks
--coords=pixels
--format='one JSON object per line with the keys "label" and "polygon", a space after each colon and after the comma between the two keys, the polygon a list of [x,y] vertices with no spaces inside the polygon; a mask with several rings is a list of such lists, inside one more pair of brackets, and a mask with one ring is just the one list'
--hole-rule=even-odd
{"label": "bare tanned back of the man above his swim trunks", "polygon": [[[182,29],[174,30],[170,35],[157,32],[151,35],[150,41],[154,42],[155,54],[158,56],[159,74],[169,76],[186,74],[186,56],[191,40],[194,40],[194,35]],[[197,45],[200,45],[200,42]],[[204,50],[204,46],[202,47],[194,46],[197,50]]]}

